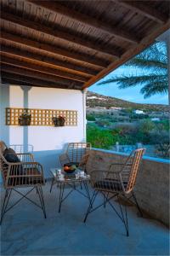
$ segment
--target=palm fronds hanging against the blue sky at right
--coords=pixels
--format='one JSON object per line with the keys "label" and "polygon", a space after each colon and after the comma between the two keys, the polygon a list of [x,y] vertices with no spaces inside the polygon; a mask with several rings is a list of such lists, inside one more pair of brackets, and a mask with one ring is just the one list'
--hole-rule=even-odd
{"label": "palm fronds hanging against the blue sky at right", "polygon": [[152,44],[132,60],[124,64],[130,67],[131,74],[115,76],[99,84],[117,83],[120,89],[142,85],[140,92],[144,98],[167,93],[167,47],[165,43]]}

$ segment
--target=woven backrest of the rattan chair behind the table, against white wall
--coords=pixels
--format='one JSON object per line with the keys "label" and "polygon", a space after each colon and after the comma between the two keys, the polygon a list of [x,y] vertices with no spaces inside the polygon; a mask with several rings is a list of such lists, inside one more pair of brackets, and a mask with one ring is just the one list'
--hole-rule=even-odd
{"label": "woven backrest of the rattan chair behind the table, against white wall", "polygon": [[71,162],[79,163],[84,154],[88,154],[91,149],[90,143],[68,143],[66,154],[68,154]]}

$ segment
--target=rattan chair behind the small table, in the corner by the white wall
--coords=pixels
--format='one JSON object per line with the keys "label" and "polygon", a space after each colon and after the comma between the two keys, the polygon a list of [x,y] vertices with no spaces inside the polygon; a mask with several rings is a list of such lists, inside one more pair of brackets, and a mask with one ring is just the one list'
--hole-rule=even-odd
{"label": "rattan chair behind the small table, in the corner by the white wall", "polygon": [[[90,149],[90,143],[68,143],[65,153],[59,155],[60,166],[63,167],[66,164],[72,164],[86,172],[86,163]],[[52,178],[50,193],[53,189],[53,185],[54,177]]]}

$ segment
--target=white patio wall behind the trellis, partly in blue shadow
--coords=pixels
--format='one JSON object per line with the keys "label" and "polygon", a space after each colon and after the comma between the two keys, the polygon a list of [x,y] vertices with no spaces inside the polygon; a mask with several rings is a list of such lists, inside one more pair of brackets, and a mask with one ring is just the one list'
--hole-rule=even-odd
{"label": "white patio wall behind the trellis, partly in blue shadow", "polygon": [[[57,156],[65,149],[66,143],[86,140],[82,91],[3,84],[0,93],[0,139],[8,145],[33,145],[46,177],[50,167],[59,165]],[[8,126],[5,125],[7,107],[77,110],[77,126]]]}

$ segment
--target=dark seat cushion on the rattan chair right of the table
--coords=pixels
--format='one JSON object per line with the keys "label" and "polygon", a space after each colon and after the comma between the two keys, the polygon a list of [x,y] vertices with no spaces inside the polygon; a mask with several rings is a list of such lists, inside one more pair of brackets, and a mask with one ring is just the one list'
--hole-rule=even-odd
{"label": "dark seat cushion on the rattan chair right of the table", "polygon": [[[127,183],[123,183],[124,188],[126,189]],[[94,188],[95,189],[100,189],[100,190],[107,190],[107,191],[122,191],[122,185],[119,180],[116,179],[105,179],[101,181],[97,181],[94,183]]]}

